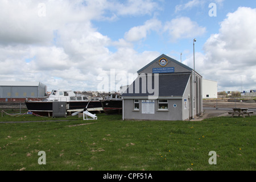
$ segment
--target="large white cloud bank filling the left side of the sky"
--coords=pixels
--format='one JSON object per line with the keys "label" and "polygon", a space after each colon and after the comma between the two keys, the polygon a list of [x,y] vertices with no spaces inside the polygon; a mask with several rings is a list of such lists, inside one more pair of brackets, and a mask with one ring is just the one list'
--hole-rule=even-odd
{"label": "large white cloud bank filling the left side of the sky", "polygon": [[[155,2],[49,0],[39,6],[40,3],[0,2],[1,80],[41,81],[48,89],[56,89],[56,85],[96,89],[100,73],[112,68],[136,72],[140,65],[134,60],[151,55],[137,53],[124,39],[112,42],[91,21],[109,19],[108,11],[119,16],[150,14],[156,8]],[[117,52],[110,52],[108,46],[116,47]]]}

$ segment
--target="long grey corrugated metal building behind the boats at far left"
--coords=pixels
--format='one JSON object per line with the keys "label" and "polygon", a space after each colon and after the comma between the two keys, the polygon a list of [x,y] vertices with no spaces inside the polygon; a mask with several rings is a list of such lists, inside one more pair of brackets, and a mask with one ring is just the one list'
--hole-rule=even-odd
{"label": "long grey corrugated metal building behind the boats at far left", "polygon": [[0,101],[24,101],[27,98],[42,98],[47,86],[42,82],[0,81]]}

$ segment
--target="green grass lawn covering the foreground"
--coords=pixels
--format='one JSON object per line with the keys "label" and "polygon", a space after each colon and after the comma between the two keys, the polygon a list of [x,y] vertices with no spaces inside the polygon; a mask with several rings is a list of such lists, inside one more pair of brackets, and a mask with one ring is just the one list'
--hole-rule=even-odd
{"label": "green grass lawn covering the foreground", "polygon": [[[256,168],[255,117],[167,122],[122,121],[121,115],[97,116],[98,120],[83,121],[77,116],[3,115],[0,122],[55,121],[0,123],[0,170],[254,171]],[[46,165],[38,164],[39,151],[46,152]],[[216,165],[208,163],[210,151],[217,153]]]}

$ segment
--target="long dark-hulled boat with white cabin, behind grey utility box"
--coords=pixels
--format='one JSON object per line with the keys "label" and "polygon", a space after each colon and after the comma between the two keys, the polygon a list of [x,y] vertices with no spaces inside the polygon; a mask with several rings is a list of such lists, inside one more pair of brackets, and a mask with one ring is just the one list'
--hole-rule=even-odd
{"label": "long dark-hulled boat with white cabin, behind grey utility box", "polygon": [[81,93],[75,93],[72,90],[52,90],[49,96],[42,99],[26,99],[25,104],[28,111],[38,115],[52,115],[53,103],[65,103],[67,114],[84,111],[86,108],[90,112],[102,111],[102,105],[97,98],[90,97]]}

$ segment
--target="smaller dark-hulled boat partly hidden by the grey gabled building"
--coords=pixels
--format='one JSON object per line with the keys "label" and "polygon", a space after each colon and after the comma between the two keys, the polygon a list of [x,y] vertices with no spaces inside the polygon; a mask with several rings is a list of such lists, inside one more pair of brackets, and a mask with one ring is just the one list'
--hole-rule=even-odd
{"label": "smaller dark-hulled boat partly hidden by the grey gabled building", "polygon": [[119,94],[109,94],[103,100],[101,100],[101,105],[104,113],[114,114],[122,113],[122,98]]}

